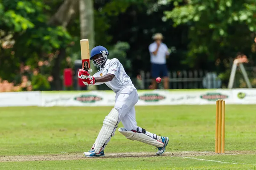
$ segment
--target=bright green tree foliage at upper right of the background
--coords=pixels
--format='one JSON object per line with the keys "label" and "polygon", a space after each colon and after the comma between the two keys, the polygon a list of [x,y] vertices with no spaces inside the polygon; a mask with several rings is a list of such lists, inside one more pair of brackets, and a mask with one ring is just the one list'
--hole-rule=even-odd
{"label": "bright green tree foliage at upper right of the background", "polygon": [[241,52],[249,57],[256,31],[255,0],[169,0],[174,5],[166,11],[173,26],[187,26],[188,53],[183,64],[229,65],[229,58]]}

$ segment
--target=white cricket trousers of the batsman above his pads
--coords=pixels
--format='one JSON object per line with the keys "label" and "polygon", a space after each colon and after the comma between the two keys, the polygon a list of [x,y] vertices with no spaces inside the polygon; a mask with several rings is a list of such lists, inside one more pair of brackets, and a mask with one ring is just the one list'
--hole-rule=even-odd
{"label": "white cricket trousers of the batsman above his pads", "polygon": [[121,121],[126,130],[136,130],[134,105],[138,102],[139,95],[134,86],[127,86],[116,93],[115,109],[119,111]]}

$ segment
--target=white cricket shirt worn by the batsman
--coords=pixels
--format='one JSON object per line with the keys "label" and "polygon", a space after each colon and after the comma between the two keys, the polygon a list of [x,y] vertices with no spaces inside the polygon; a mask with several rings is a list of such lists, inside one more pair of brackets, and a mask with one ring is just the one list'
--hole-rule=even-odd
{"label": "white cricket shirt worn by the batsman", "polygon": [[115,77],[109,82],[96,82],[95,85],[105,83],[115,93],[128,85],[134,86],[130,77],[126,74],[124,67],[116,58],[107,59],[104,67],[100,68],[100,71],[94,74],[93,77],[102,77],[106,74],[113,74]]}

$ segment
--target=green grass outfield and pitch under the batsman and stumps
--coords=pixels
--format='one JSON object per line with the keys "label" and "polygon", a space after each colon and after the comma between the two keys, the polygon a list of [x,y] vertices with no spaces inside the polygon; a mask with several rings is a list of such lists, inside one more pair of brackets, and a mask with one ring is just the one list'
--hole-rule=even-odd
{"label": "green grass outfield and pitch under the batsman and stumps", "polygon": [[140,127],[169,136],[163,156],[117,130],[105,158],[83,158],[109,111],[111,107],[0,108],[0,170],[256,169],[256,105],[226,105],[225,154],[213,153],[215,105],[137,106]]}

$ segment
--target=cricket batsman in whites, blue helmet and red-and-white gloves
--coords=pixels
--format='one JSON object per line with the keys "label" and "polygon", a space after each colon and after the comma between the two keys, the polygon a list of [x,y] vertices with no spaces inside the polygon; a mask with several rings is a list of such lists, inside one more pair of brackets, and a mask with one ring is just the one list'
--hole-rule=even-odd
{"label": "cricket batsman in whites, blue helmet and red-and-white gloves", "polygon": [[137,89],[126,74],[122,64],[118,59],[108,59],[108,50],[103,46],[96,46],[91,50],[90,59],[99,68],[99,72],[90,76],[88,71],[80,69],[78,77],[82,79],[84,85],[100,85],[105,83],[116,93],[115,106],[103,120],[99,135],[88,152],[84,152],[86,157],[105,156],[104,149],[111,137],[114,136],[117,125],[122,122],[124,127],[118,130],[127,139],[137,140],[145,144],[157,147],[157,155],[162,155],[169,142],[168,137],[157,136],[137,126],[135,119],[134,105],[138,102]]}

